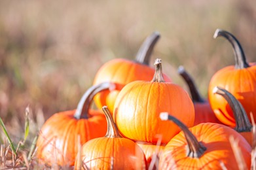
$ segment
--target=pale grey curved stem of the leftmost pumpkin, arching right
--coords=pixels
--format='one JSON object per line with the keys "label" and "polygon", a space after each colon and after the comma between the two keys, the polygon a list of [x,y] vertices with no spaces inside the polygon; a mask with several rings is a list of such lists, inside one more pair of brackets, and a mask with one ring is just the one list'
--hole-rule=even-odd
{"label": "pale grey curved stem of the leftmost pumpkin, arching right", "polygon": [[103,82],[101,84],[95,85],[90,87],[84,95],[82,95],[82,98],[79,101],[79,104],[77,105],[77,110],[75,111],[74,117],[77,119],[81,118],[88,118],[88,112],[90,109],[90,105],[92,104],[94,95],[96,93],[99,93],[103,90],[108,90],[108,89],[114,89],[115,84],[111,82]]}

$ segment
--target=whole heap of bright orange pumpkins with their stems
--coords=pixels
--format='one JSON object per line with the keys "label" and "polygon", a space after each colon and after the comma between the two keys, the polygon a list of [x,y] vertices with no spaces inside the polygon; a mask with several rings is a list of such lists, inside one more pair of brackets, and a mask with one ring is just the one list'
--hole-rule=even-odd
{"label": "whole heap of bright orange pumpkins with their stems", "polygon": [[[46,120],[37,141],[39,162],[74,169],[249,169],[256,65],[247,63],[228,31],[217,29],[213,37],[229,40],[235,65],[213,75],[208,99],[183,67],[178,73],[191,97],[162,73],[161,59],[155,68],[149,65],[160,38],[153,32],[134,61],[119,58],[102,65],[77,109]],[[93,101],[98,110],[90,109]]]}

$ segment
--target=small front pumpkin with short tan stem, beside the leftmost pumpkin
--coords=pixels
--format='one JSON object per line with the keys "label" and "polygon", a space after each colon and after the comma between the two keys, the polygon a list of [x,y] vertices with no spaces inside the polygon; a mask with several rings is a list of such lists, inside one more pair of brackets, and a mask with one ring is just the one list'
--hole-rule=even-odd
{"label": "small front pumpkin with short tan stem, beside the leftmost pumpkin", "polygon": [[141,148],[134,141],[121,137],[107,107],[102,109],[107,118],[107,133],[82,145],[75,169],[146,169]]}

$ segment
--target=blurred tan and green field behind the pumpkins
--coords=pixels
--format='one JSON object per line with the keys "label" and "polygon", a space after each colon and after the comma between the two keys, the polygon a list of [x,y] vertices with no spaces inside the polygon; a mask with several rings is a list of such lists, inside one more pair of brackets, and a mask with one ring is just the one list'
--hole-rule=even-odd
{"label": "blurred tan and green field behind the pumpkins", "polygon": [[1,118],[23,126],[27,106],[42,121],[75,109],[101,65],[134,59],[153,31],[161,38],[151,65],[162,58],[164,73],[187,89],[177,75],[183,65],[207,97],[211,76],[234,64],[229,42],[213,39],[217,28],[234,34],[247,61],[256,61],[252,0],[0,1]]}

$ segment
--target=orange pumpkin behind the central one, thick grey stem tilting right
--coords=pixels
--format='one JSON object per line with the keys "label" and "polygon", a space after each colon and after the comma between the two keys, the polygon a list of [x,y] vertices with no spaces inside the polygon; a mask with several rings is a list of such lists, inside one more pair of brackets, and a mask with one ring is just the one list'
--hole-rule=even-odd
{"label": "orange pumpkin behind the central one, thick grey stem tilting right", "polygon": [[[139,49],[134,61],[117,58],[108,61],[100,67],[94,78],[94,85],[102,82],[115,82],[116,84],[119,84],[119,88],[111,92],[106,91],[98,93],[94,97],[96,106],[99,109],[104,105],[107,105],[110,112],[113,113],[115,99],[126,84],[135,80],[151,80],[155,73],[155,69],[149,67],[149,60],[153,48],[159,38],[160,34],[158,32],[154,32],[147,37]],[[164,79],[167,82],[171,81],[166,75],[164,75]]]}

